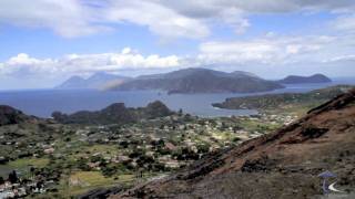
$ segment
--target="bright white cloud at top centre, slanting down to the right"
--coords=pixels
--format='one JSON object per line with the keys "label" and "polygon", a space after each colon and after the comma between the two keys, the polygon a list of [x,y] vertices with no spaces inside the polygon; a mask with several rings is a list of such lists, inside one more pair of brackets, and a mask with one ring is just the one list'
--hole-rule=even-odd
{"label": "bright white cloud at top centre, slanting down to the right", "polygon": [[106,20],[146,25],[151,32],[163,38],[204,38],[209,28],[201,21],[176,13],[154,1],[112,1],[105,10]]}

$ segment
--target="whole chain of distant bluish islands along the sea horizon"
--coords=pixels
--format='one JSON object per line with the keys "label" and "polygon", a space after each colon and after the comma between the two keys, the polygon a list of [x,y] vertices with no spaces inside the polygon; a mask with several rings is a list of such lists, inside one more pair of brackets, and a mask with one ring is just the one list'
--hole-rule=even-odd
{"label": "whole chain of distant bluish islands along the sea horizon", "polygon": [[328,83],[332,80],[323,74],[311,76],[288,75],[283,80],[267,81],[253,73],[234,71],[231,73],[190,67],[152,75],[129,77],[98,72],[88,78],[71,76],[59,90],[94,88],[104,91],[160,90],[169,94],[196,93],[255,93],[284,88],[283,84]]}

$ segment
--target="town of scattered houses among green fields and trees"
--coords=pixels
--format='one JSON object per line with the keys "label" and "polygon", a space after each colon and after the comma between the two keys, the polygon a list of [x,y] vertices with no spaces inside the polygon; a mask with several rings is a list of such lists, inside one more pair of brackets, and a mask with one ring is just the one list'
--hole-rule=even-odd
{"label": "town of scattered houses among green fields and trees", "polygon": [[[50,121],[41,124],[52,132],[42,140],[24,143],[19,136],[18,142],[2,143],[4,149],[16,149],[1,153],[0,167],[8,174],[0,178],[0,198],[79,196],[118,186],[125,189],[296,118],[265,113],[203,118],[180,112],[124,125],[61,125]],[[1,136],[6,140],[9,134]]]}

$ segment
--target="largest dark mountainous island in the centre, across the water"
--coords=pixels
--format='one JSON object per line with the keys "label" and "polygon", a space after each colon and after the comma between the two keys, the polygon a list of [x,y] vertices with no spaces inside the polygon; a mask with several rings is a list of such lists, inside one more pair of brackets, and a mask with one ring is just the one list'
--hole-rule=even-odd
{"label": "largest dark mountainous island in the centre, across the water", "polygon": [[282,88],[245,72],[225,73],[207,69],[184,69],[165,74],[139,76],[113,90],[162,90],[169,93],[250,93]]}

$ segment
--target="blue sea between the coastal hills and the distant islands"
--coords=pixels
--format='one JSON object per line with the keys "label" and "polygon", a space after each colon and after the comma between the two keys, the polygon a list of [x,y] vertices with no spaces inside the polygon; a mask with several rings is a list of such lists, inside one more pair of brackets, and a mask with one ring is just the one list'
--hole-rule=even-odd
{"label": "blue sea between the coastal hills and the distant islands", "polygon": [[223,102],[227,97],[260,95],[265,93],[302,93],[337,84],[353,84],[355,78],[338,78],[325,84],[288,84],[286,88],[263,93],[223,93],[223,94],[173,94],[159,91],[94,91],[94,90],[28,90],[2,91],[0,104],[10,105],[26,114],[39,117],[50,117],[54,111],[73,113],[78,111],[98,111],[112,103],[123,102],[128,107],[145,106],[153,101],[162,101],[171,109],[183,109],[184,113],[203,117],[252,115],[253,109],[220,109],[212,103]]}

